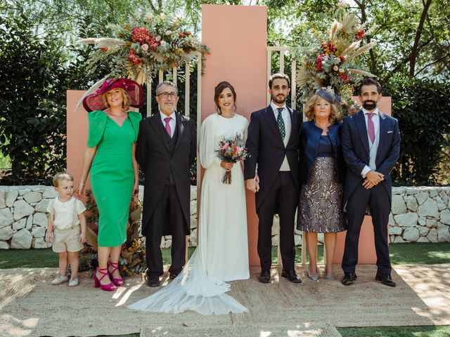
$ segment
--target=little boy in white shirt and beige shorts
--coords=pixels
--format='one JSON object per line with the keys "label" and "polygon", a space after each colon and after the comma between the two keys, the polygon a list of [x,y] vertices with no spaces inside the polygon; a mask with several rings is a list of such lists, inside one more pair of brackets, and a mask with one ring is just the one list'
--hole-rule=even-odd
{"label": "little boy in white shirt and beige shorts", "polygon": [[66,275],[70,263],[69,286],[77,286],[78,253],[86,242],[86,218],[82,201],[72,197],[73,176],[68,172],[60,172],[53,178],[58,197],[51,200],[49,212],[49,226],[47,227],[46,242],[53,242],[53,251],[59,254],[59,275],[51,284],[63,284],[69,279]]}

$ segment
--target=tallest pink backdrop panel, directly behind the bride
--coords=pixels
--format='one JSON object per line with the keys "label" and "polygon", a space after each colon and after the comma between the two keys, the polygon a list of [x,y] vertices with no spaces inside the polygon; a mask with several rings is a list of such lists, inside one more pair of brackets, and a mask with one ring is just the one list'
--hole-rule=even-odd
{"label": "tallest pink backdrop panel, directly behind the bride", "polygon": [[[211,50],[202,78],[202,121],[215,112],[214,87],[219,81],[234,86],[237,112],[249,120],[252,112],[266,105],[266,26],[264,6],[202,5],[202,42]],[[251,192],[247,192],[247,218],[250,265],[259,265],[258,220]]]}

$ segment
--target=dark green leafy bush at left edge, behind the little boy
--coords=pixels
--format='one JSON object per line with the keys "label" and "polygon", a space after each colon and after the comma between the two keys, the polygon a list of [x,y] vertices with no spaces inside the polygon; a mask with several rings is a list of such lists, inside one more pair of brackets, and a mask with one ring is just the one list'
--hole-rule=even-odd
{"label": "dark green leafy bush at left edge, behind the little boy", "polygon": [[0,17],[0,150],[14,181],[38,183],[65,166],[65,58],[30,27],[25,15]]}

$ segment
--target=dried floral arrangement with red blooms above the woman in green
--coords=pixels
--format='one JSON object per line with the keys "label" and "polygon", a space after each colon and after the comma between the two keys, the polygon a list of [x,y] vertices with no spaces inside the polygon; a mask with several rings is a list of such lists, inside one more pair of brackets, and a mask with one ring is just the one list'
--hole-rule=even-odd
{"label": "dried floral arrangement with red blooms above the woman in green", "polygon": [[[207,46],[184,29],[181,18],[164,13],[147,13],[126,25],[110,25],[115,37],[81,39],[80,44],[95,44],[88,69],[95,73],[99,65],[110,65],[108,77],[128,77],[143,84],[160,70],[179,67],[196,58],[198,53],[209,53]],[[202,62],[204,64],[204,62]],[[106,77],[106,78],[108,78]]]}

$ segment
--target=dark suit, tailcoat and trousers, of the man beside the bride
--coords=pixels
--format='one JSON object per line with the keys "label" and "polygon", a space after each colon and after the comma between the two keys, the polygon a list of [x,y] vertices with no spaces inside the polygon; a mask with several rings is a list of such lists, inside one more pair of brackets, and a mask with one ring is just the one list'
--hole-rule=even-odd
{"label": "dark suit, tailcoat and trousers, of the man beside the bride", "polygon": [[[290,110],[291,131],[285,146],[271,106],[253,112],[248,126],[245,147],[250,157],[245,159],[245,180],[259,176],[256,193],[258,225],[258,256],[262,270],[271,267],[271,227],[274,215],[280,216],[280,250],[283,269],[293,270],[295,263],[294,218],[299,195],[298,135],[300,114]],[[290,172],[280,172],[284,158]]]}

